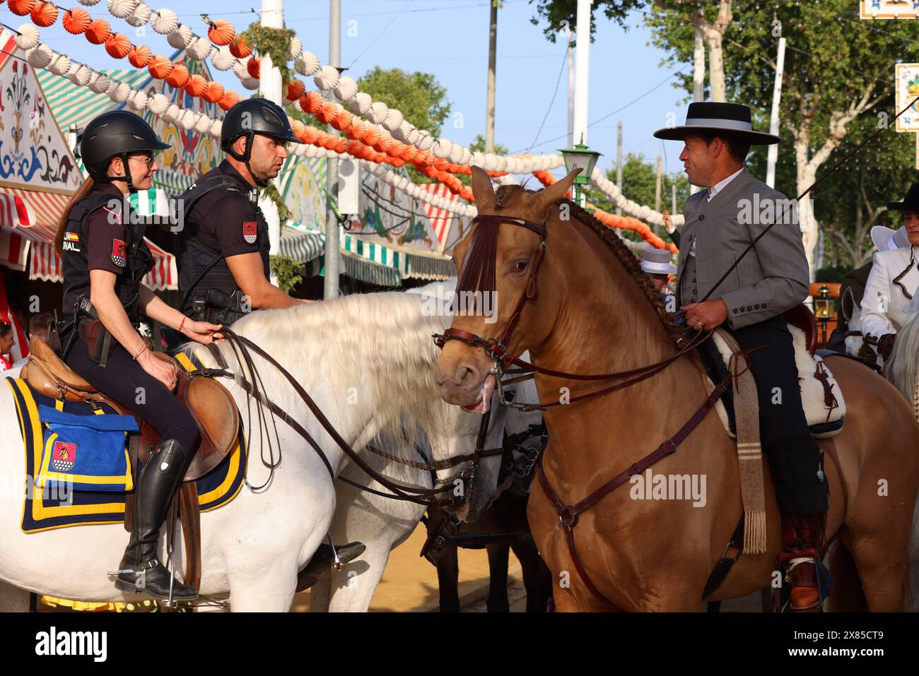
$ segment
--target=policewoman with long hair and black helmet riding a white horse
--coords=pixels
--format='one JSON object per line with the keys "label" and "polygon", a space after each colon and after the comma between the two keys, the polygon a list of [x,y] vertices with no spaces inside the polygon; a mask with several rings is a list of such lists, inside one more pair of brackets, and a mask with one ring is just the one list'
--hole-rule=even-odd
{"label": "policewoman with long hair and black helmet riding a white horse", "polygon": [[[115,586],[142,588],[169,597],[170,574],[156,556],[167,505],[199,443],[198,427],[172,390],[176,369],[154,358],[135,330],[138,310],[199,343],[210,343],[220,326],[191,321],[170,308],[141,279],[153,267],[142,225],[130,218],[128,196],[150,187],[158,168],[153,152],[169,148],[138,116],[126,110],[93,119],[80,151],[90,178],[74,195],[58,227],[55,244],[63,264],[63,310],[76,324],[62,336],[67,365],[162,434],[135,486],[134,525]],[[101,321],[104,331],[89,326]],[[78,330],[79,326],[79,330]],[[220,334],[218,334],[220,337]],[[101,347],[100,347],[101,346]],[[177,581],[176,600],[198,591]]]}

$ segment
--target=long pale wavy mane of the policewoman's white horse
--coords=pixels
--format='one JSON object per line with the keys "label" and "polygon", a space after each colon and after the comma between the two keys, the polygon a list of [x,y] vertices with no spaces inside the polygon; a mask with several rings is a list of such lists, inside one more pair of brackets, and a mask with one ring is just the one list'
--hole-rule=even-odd
{"label": "long pale wavy mane of the policewoman's white horse", "polygon": [[[301,384],[335,423],[335,410],[351,402],[371,414],[374,434],[403,434],[415,425],[428,434],[452,434],[456,413],[440,398],[435,379],[439,351],[431,338],[450,318],[414,294],[354,294],[283,310],[258,310],[233,324],[233,331],[265,349]],[[234,370],[233,348],[221,354]],[[199,355],[207,355],[199,346]],[[280,374],[259,366],[267,394],[282,408],[298,398]],[[270,378],[270,379],[269,379]],[[317,395],[327,391],[329,400]],[[328,409],[328,410],[326,410]],[[287,408],[286,410],[290,410]],[[369,439],[361,436],[357,443]]]}

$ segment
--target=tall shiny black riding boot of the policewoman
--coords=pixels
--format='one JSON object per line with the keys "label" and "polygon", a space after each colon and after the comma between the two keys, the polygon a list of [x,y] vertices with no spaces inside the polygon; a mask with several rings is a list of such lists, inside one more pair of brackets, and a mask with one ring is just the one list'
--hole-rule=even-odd
{"label": "tall shiny black riding boot of the policewoman", "polygon": [[[134,487],[134,527],[119,565],[115,587],[121,591],[146,591],[155,599],[169,598],[169,570],[156,558],[160,526],[166,518],[169,501],[185,473],[187,456],[175,439],[154,446]],[[198,598],[198,590],[173,582],[176,601]]]}

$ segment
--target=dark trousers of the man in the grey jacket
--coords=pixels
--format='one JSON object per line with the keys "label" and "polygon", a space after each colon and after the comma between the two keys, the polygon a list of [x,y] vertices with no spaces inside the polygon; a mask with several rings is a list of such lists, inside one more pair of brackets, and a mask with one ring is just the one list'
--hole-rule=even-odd
{"label": "dark trousers of the man in the grey jacket", "polygon": [[781,317],[730,329],[750,355],[759,399],[759,434],[783,512],[813,514],[829,507],[823,453],[811,437],[801,406],[791,334]]}

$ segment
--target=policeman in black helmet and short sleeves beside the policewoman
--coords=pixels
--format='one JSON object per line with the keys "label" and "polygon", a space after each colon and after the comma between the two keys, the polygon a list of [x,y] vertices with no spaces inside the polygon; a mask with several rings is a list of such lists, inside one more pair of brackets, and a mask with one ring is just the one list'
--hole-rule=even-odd
{"label": "policeman in black helmet and short sleeves beside the policewoman", "polygon": [[268,280],[268,226],[257,188],[278,175],[289,143],[300,143],[283,108],[264,98],[240,101],[221,129],[226,159],[182,194],[178,233],[182,310],[198,320],[233,323],[245,312],[288,308],[290,298]]}

